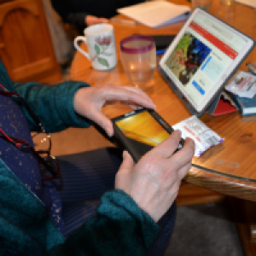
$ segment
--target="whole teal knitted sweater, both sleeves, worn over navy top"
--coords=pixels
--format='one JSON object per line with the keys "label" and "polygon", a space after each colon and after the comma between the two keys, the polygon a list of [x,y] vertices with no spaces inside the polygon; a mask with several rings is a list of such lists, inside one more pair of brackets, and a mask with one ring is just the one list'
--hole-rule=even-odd
{"label": "whole teal knitted sweater, both sleeves, worn over navy top", "polygon": [[[0,83],[20,93],[49,132],[90,125],[73,110],[75,91],[88,84],[13,84],[1,61]],[[36,124],[23,111],[34,130]],[[44,203],[26,189],[0,156],[0,255],[143,255],[158,232],[154,220],[129,195],[115,189],[102,196],[96,217],[65,240]]]}

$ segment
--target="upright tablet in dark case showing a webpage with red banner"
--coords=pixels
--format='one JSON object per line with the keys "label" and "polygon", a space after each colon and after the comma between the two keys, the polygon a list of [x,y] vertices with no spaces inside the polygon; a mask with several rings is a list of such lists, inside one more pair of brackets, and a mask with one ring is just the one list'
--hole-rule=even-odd
{"label": "upright tablet in dark case showing a webpage with red banner", "polygon": [[166,49],[158,69],[189,112],[217,107],[224,84],[252,51],[252,38],[202,9],[195,9]]}

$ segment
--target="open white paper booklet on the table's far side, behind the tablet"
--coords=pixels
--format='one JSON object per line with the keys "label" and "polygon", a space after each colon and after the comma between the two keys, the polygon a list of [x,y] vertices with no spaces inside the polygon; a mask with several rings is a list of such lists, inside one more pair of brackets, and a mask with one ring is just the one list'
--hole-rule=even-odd
{"label": "open white paper booklet on the table's far side, behind the tablet", "polygon": [[177,21],[187,20],[190,14],[189,6],[177,5],[167,1],[150,1],[138,3],[118,9],[119,14],[150,26],[165,26]]}

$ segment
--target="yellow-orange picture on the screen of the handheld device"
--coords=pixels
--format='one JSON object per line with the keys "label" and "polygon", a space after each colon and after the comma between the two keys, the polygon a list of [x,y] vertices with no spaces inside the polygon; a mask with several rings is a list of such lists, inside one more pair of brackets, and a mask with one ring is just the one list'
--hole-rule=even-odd
{"label": "yellow-orange picture on the screen of the handheld device", "polygon": [[147,111],[116,121],[116,125],[125,137],[149,146],[156,146],[169,137],[169,133]]}

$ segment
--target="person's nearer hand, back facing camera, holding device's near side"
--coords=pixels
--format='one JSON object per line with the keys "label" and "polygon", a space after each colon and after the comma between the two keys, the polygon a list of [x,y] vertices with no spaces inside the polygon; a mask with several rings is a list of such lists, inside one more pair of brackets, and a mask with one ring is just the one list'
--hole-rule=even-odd
{"label": "person's nearer hand, back facing camera, holding device's near side", "polygon": [[190,138],[185,140],[183,148],[173,154],[180,139],[180,131],[174,131],[135,166],[131,155],[125,151],[123,163],[115,177],[115,189],[131,195],[155,222],[172,206],[195,154],[195,143]]}

